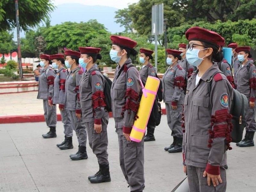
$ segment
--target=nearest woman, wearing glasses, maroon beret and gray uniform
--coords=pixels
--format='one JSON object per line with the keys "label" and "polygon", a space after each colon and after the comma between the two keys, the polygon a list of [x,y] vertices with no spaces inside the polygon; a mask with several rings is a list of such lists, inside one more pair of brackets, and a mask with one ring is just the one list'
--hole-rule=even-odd
{"label": "nearest woman, wearing glasses, maroon beret and gray uniform", "polygon": [[[227,149],[231,141],[229,109],[233,88],[213,60],[220,62],[224,39],[204,28],[187,30],[187,60],[198,70],[188,80],[184,103],[183,164],[190,192],[225,192]],[[212,81],[211,92],[208,83]]]}

